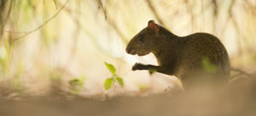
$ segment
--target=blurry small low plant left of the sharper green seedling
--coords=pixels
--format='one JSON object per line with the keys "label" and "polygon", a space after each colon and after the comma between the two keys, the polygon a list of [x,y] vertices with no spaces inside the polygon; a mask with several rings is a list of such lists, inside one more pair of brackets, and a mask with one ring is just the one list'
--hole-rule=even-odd
{"label": "blurry small low plant left of the sharper green seedling", "polygon": [[84,85],[84,80],[85,80],[85,76],[83,75],[81,78],[72,78],[69,80],[68,84],[71,88],[71,92],[73,94],[77,94],[79,93],[79,91],[81,90],[81,88]]}

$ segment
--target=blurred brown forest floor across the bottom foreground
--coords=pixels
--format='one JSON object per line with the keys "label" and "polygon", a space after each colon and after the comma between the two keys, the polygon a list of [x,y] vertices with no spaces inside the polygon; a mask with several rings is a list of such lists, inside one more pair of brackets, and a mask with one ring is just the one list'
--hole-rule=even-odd
{"label": "blurred brown forest floor across the bottom foreground", "polygon": [[113,96],[101,99],[53,90],[45,96],[0,98],[0,116],[216,116],[256,115],[256,76],[218,90],[200,88],[170,96]]}

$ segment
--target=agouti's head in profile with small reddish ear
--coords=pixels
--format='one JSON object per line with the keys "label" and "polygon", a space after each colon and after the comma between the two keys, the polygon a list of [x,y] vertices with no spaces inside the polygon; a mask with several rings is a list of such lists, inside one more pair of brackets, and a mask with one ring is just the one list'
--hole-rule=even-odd
{"label": "agouti's head in profile with small reddish ear", "polygon": [[154,20],[149,20],[148,26],[131,38],[127,44],[126,52],[131,55],[148,55],[154,50],[159,31],[160,27],[154,23]]}

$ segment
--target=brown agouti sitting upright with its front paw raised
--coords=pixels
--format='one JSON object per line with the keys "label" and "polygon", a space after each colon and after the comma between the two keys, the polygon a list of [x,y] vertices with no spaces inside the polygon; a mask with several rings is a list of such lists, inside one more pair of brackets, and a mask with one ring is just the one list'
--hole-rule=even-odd
{"label": "brown agouti sitting upright with its front paw raised", "polygon": [[229,55],[218,38],[203,32],[178,37],[154,20],[131,39],[126,52],[139,56],[153,53],[159,66],[136,63],[132,70],[174,75],[185,90],[200,84],[218,86],[230,77]]}

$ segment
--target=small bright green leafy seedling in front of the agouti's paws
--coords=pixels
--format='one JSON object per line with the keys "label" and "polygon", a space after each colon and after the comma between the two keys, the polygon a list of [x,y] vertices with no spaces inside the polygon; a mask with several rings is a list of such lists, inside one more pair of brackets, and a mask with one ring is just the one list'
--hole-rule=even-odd
{"label": "small bright green leafy seedling in front of the agouti's paws", "polygon": [[112,87],[113,83],[116,82],[116,81],[119,83],[119,85],[121,87],[123,87],[124,86],[123,78],[120,78],[116,75],[115,67],[113,67],[112,64],[108,64],[107,62],[104,62],[104,63],[106,65],[106,67],[108,67],[108,70],[112,73],[112,77],[107,78],[105,80],[105,83],[104,83],[105,90],[109,90]]}

